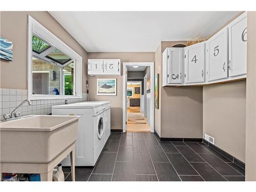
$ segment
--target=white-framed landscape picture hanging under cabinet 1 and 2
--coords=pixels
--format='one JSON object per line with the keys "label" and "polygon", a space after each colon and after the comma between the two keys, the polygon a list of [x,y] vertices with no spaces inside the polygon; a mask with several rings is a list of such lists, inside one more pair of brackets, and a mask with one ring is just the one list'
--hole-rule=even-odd
{"label": "white-framed landscape picture hanging under cabinet 1 and 2", "polygon": [[97,95],[116,95],[116,79],[97,79]]}

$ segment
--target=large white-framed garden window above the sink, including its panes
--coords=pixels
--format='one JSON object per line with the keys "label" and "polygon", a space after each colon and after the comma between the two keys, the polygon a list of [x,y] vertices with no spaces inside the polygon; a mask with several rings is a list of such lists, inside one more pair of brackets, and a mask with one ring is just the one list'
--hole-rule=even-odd
{"label": "large white-framed garden window above the sink, including its panes", "polygon": [[28,98],[82,97],[82,58],[28,17]]}

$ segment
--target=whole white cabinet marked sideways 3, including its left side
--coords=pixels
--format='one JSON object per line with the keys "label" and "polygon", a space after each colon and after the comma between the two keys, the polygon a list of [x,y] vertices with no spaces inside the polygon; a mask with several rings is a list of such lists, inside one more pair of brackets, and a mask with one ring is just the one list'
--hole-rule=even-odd
{"label": "whole white cabinet marked sideways 3, including its left side", "polygon": [[166,48],[163,53],[163,86],[182,84],[183,48]]}

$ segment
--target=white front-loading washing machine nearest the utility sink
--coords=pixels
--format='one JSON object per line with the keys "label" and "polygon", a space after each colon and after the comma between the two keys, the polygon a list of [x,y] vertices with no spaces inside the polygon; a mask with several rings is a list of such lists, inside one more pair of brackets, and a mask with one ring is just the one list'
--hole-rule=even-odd
{"label": "white front-loading washing machine nearest the utility sink", "polygon": [[[105,145],[104,103],[79,102],[52,106],[53,115],[80,115],[76,144],[75,165],[94,166]],[[70,166],[68,156],[62,162]]]}

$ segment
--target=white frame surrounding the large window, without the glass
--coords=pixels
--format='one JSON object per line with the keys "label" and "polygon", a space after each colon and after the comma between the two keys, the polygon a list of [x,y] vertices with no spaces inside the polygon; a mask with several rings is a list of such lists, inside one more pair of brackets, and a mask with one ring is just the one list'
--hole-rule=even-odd
{"label": "white frame surrounding the large window, without the glass", "polygon": [[[50,42],[51,45],[61,50],[63,53],[69,55],[74,59],[74,95],[37,95],[32,94],[33,91],[33,53],[32,53],[32,36],[35,34],[39,38]],[[74,50],[67,46],[58,37],[52,34],[44,26],[39,24],[33,17],[28,15],[28,99],[75,99],[82,98],[82,57]],[[62,85],[61,85],[62,86]]]}

